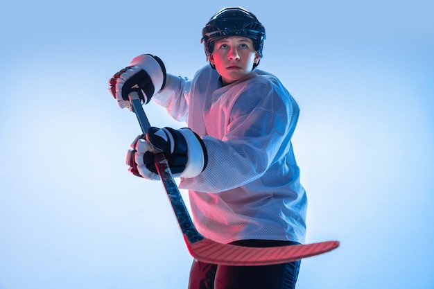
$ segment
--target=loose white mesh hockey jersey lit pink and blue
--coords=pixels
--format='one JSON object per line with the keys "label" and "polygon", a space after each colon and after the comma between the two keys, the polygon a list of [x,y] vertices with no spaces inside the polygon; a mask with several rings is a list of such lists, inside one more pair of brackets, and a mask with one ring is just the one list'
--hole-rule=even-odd
{"label": "loose white mesh hockey jersey lit pink and blue", "polygon": [[291,144],[297,103],[259,69],[226,86],[218,78],[209,65],[193,79],[168,75],[153,97],[207,147],[207,168],[180,182],[189,190],[196,228],[220,243],[304,243],[307,199]]}

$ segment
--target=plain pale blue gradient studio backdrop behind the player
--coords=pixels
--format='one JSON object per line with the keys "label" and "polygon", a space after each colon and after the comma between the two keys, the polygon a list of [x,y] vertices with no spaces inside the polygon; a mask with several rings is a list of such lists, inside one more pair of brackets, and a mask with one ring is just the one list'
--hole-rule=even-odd
{"label": "plain pale blue gradient studio backdrop behind the player", "polygon": [[42,0],[1,9],[1,289],[186,288],[191,256],[161,184],[127,171],[139,125],[107,80],[141,53],[192,77],[224,6],[263,22],[260,68],[300,105],[307,241],[341,241],[297,288],[434,288],[432,1]]}

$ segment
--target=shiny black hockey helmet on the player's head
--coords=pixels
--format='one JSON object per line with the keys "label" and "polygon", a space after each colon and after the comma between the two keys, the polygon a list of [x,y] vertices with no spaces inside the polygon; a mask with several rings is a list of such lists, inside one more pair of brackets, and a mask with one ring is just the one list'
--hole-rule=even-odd
{"label": "shiny black hockey helmet on the player's head", "polygon": [[214,50],[214,42],[219,38],[229,36],[251,38],[254,50],[262,57],[263,40],[266,39],[266,28],[252,12],[242,7],[229,7],[219,10],[209,19],[207,25],[202,29],[201,40],[205,46],[207,60]]}

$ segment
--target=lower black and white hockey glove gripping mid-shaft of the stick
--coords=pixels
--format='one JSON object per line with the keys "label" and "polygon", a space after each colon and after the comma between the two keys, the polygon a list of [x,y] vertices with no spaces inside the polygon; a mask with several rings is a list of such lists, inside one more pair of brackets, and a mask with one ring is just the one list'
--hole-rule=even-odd
{"label": "lower black and white hockey glove gripping mid-shaft of the stick", "polygon": [[173,177],[196,177],[207,167],[207,148],[189,128],[151,127],[131,143],[126,163],[131,173],[145,179],[159,179],[154,154],[163,152]]}

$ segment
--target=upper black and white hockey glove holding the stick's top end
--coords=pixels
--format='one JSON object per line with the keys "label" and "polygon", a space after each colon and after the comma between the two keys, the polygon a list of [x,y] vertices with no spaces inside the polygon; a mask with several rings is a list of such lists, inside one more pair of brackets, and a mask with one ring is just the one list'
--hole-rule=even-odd
{"label": "upper black and white hockey glove holding the stick's top end", "polygon": [[142,54],[134,58],[128,67],[114,74],[109,80],[110,94],[121,108],[130,108],[131,91],[137,91],[141,104],[149,102],[166,84],[166,68],[157,56]]}

